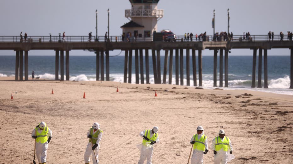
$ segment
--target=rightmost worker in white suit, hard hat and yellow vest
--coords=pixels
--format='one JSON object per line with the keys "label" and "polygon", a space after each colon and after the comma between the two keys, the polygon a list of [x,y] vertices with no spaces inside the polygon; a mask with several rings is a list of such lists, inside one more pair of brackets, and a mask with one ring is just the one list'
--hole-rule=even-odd
{"label": "rightmost worker in white suit, hard hat and yellow vest", "polygon": [[227,164],[228,151],[232,154],[233,148],[231,140],[225,136],[224,130],[219,131],[219,136],[215,137],[212,141],[212,150],[214,151],[215,164]]}

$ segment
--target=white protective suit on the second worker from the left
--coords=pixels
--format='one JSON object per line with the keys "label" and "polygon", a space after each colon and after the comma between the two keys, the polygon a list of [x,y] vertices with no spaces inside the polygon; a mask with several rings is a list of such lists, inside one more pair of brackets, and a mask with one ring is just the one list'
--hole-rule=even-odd
{"label": "white protective suit on the second worker from the left", "polygon": [[[100,130],[100,128],[98,129],[94,129],[93,130],[93,133],[91,134],[91,129],[87,132],[87,136],[91,135],[93,136],[93,134],[97,133],[98,130]],[[97,162],[99,163],[99,149],[100,149],[100,141],[102,139],[102,132],[98,135],[98,138],[97,138],[97,144],[98,146],[95,148],[95,153],[96,153],[96,158],[97,158]],[[91,149],[92,148],[92,145],[91,145],[91,142],[89,142],[86,146],[86,152],[85,152],[85,156],[84,156],[84,160],[85,160],[85,163],[89,163],[90,162],[90,156],[92,154],[92,161],[93,161],[93,164],[97,164],[96,162],[96,158],[95,158],[95,155],[94,155],[94,152],[93,150]]]}

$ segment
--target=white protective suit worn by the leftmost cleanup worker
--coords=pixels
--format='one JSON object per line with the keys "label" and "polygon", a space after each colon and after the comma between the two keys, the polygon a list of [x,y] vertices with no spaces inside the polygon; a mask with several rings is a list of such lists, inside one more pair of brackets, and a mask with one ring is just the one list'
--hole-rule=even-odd
{"label": "white protective suit worn by the leftmost cleanup worker", "polygon": [[[48,137],[52,137],[52,131],[48,128]],[[41,133],[43,130],[38,128],[38,132]],[[31,132],[31,136],[36,136],[36,129]],[[47,150],[48,150],[48,142],[41,143],[41,141],[36,142],[36,157],[39,163],[47,162]]]}

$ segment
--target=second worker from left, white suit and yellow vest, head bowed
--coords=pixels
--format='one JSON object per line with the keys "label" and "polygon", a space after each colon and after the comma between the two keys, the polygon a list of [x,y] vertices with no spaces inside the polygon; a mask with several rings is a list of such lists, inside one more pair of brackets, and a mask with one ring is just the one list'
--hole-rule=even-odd
{"label": "second worker from left, white suit and yellow vest, head bowed", "polygon": [[[94,125],[87,132],[87,138],[89,138],[89,142],[86,146],[85,152],[85,163],[90,163],[90,156],[92,155],[93,164],[99,163],[99,149],[100,149],[100,141],[102,139],[103,131],[100,129],[100,124],[95,122]],[[96,155],[96,156],[95,156]]]}

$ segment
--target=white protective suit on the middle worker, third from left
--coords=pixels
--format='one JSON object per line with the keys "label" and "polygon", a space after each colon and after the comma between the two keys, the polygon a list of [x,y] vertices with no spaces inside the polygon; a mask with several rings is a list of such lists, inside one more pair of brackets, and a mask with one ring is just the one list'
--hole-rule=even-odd
{"label": "white protective suit on the middle worker, third from left", "polygon": [[[145,133],[146,133],[146,130],[140,132],[139,136],[142,137],[142,136],[145,135]],[[154,135],[154,133],[152,133],[152,130],[151,130],[150,131],[150,137],[152,138],[153,135]],[[158,144],[158,143],[159,143],[159,136],[157,137],[155,144]],[[155,145],[155,144],[153,144],[153,145]],[[146,164],[152,164],[152,152],[153,152],[153,147],[150,147],[150,148],[147,148],[147,149],[142,148],[141,149],[141,157],[140,157],[140,159],[138,161],[138,164],[143,164],[145,160],[146,160]]]}

